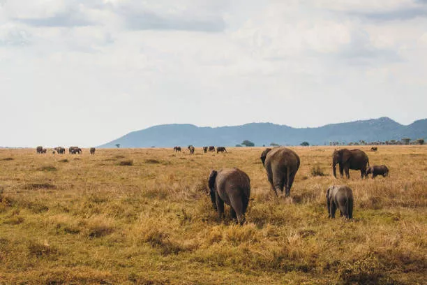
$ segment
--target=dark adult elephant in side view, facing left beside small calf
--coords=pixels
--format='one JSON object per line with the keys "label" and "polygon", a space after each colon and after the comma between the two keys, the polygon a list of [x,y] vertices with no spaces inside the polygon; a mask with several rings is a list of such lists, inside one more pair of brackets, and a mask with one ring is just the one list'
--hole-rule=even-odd
{"label": "dark adult elephant in side view, facing left beside small calf", "polygon": [[335,150],[334,154],[332,154],[332,170],[335,178],[337,163],[340,166],[341,178],[343,178],[343,171],[345,171],[345,176],[350,178],[349,169],[360,170],[360,176],[364,178],[366,176],[366,166],[369,166],[369,159],[368,155],[360,149]]}

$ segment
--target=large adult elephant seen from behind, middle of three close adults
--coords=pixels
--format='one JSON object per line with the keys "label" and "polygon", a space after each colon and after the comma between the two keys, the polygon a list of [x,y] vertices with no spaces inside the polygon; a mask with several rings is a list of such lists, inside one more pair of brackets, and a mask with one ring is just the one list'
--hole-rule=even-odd
{"label": "large adult elephant seen from behind, middle of three close adults", "polygon": [[261,154],[261,161],[267,170],[267,177],[276,196],[278,191],[283,195],[283,187],[285,187],[285,194],[288,197],[299,168],[298,154],[287,147],[267,148]]}

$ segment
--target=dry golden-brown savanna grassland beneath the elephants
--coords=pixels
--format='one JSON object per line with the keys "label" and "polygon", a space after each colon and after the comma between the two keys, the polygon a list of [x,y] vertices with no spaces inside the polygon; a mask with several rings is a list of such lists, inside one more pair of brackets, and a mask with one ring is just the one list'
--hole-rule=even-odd
{"label": "dry golden-brown savanna grassland beneath the elephants", "polygon": [[[389,166],[375,180],[335,180],[334,148],[292,147],[288,199],[262,149],[0,149],[0,284],[426,284],[427,147],[361,147]],[[226,167],[251,180],[244,226],[218,223],[207,196]],[[328,219],[331,184],[352,188],[352,221]]]}

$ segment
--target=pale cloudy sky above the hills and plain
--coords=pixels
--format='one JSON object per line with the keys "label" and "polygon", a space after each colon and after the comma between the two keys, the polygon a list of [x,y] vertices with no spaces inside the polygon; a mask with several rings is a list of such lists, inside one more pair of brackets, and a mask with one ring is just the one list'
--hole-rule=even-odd
{"label": "pale cloudy sky above the hills and plain", "polygon": [[0,0],[0,146],[427,117],[427,0]]}

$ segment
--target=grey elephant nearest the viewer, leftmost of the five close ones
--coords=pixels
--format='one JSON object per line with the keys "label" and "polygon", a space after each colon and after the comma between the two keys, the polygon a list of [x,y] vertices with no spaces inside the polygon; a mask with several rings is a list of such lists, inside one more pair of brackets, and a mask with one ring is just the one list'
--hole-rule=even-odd
{"label": "grey elephant nearest the viewer, leftmost of the five close ones", "polygon": [[237,218],[239,224],[244,224],[250,196],[248,175],[237,168],[212,170],[209,175],[209,189],[213,208],[218,212],[218,219],[224,218],[224,203],[226,203],[230,205],[232,219]]}

